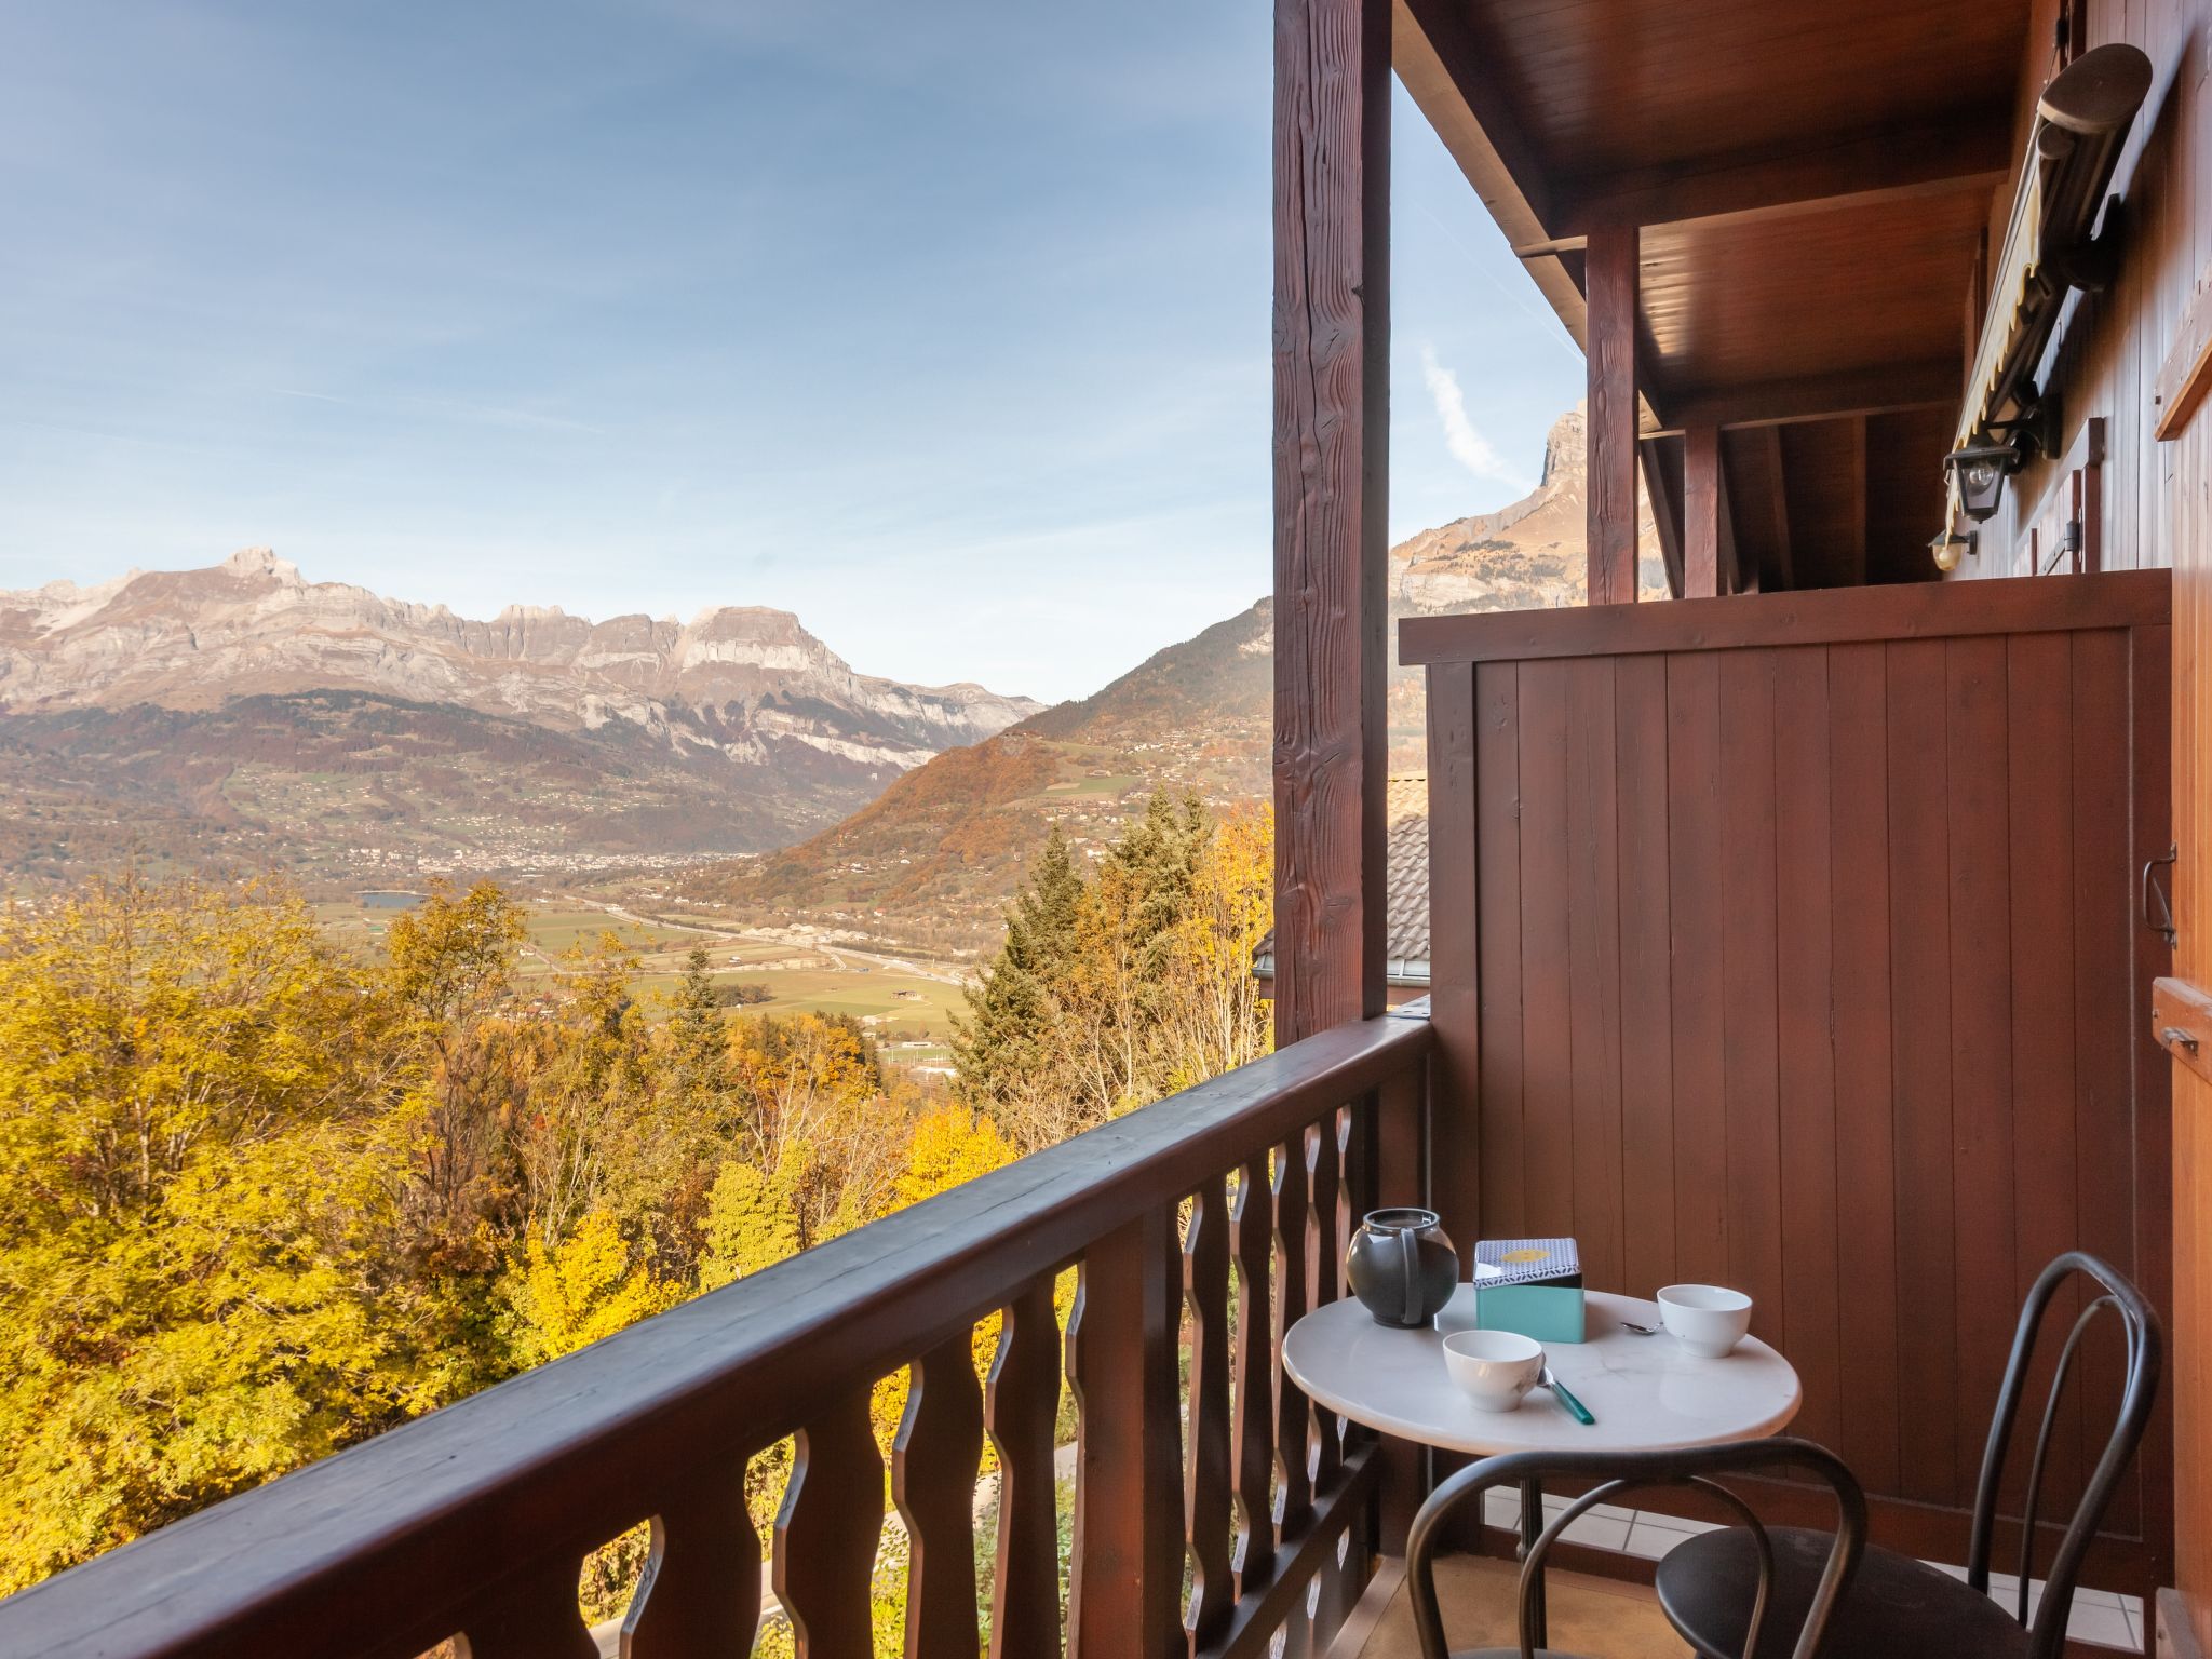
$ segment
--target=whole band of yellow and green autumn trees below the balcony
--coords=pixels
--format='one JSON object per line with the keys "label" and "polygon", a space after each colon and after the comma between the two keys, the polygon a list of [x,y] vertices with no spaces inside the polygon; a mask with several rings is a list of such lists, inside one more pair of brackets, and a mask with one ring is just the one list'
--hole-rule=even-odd
{"label": "whole band of yellow and green autumn trees below the balcony", "polygon": [[[956,1093],[728,1011],[703,949],[668,995],[613,938],[524,982],[491,883],[376,956],[265,883],[7,911],[0,1593],[1265,1051],[1267,845],[1168,796],[1088,874],[1062,843]],[[787,1473],[748,1473],[763,1535]]]}

